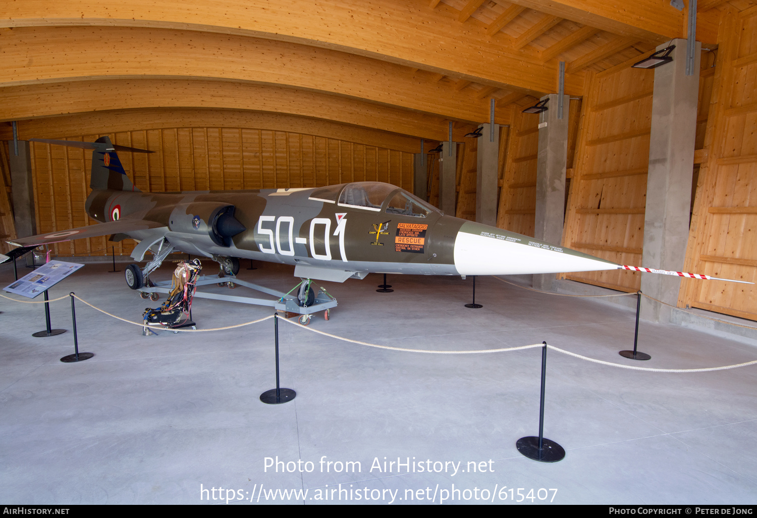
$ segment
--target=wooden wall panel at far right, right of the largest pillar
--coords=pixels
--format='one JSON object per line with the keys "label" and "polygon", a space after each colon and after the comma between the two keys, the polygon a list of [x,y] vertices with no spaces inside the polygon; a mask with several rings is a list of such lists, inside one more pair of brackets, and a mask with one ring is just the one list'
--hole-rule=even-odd
{"label": "wooden wall panel at far right, right of the largest pillar", "polygon": [[[702,58],[703,60],[705,58]],[[704,139],[685,269],[757,280],[757,8],[727,6]],[[679,305],[757,320],[757,290],[681,281]]]}

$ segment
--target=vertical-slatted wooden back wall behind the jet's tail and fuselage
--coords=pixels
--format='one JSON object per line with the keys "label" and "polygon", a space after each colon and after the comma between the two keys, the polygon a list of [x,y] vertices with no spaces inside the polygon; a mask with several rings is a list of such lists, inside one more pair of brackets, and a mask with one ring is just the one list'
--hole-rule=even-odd
{"label": "vertical-slatted wooden back wall behind the jet's tail and fuselage", "polygon": [[[145,192],[319,187],[364,180],[413,189],[412,153],[324,137],[211,127],[109,136],[114,144],[156,151],[118,154],[129,178]],[[65,139],[92,142],[98,137]],[[96,223],[84,212],[91,151],[38,142],[31,146],[37,232]],[[111,245],[103,237],[57,243],[52,248],[55,255],[107,255]],[[126,239],[115,244],[115,253],[129,254],[133,247],[134,242]]]}

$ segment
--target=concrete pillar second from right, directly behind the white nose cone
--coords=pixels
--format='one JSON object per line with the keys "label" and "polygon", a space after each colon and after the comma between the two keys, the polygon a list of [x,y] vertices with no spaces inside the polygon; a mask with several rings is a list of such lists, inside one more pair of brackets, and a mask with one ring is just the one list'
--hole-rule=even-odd
{"label": "concrete pillar second from right, directly behind the white nose cone", "polygon": [[[534,237],[553,245],[562,244],[565,220],[565,169],[568,163],[568,106],[562,96],[562,119],[557,118],[559,95],[550,94],[549,108],[539,114],[539,151],[536,162],[536,226]],[[554,273],[534,275],[534,288],[552,289]]]}

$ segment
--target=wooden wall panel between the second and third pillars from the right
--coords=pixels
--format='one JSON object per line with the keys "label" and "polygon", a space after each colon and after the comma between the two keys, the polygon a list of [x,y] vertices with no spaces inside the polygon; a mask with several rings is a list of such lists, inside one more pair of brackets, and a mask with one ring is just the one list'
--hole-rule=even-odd
{"label": "wooden wall panel between the second and third pillars from the right", "polygon": [[539,116],[522,113],[522,106],[519,105],[512,105],[511,109],[497,226],[534,236]]}

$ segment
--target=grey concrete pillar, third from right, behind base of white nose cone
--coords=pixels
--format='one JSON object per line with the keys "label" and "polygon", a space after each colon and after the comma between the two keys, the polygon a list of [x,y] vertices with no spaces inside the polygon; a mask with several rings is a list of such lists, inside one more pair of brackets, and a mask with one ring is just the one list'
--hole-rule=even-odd
{"label": "grey concrete pillar, third from right, behind base of white nose cone", "polygon": [[491,124],[484,124],[478,144],[478,166],[476,167],[475,220],[484,225],[497,226],[497,170],[500,158],[500,125],[494,124],[494,138],[491,138]]}

